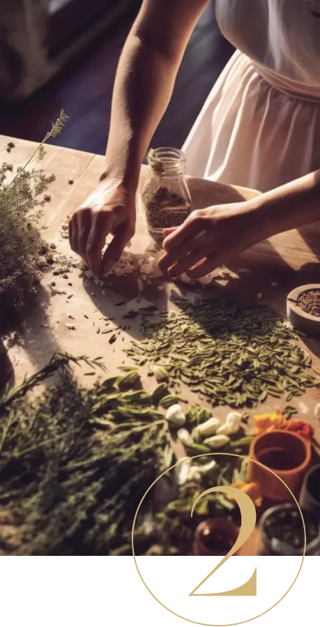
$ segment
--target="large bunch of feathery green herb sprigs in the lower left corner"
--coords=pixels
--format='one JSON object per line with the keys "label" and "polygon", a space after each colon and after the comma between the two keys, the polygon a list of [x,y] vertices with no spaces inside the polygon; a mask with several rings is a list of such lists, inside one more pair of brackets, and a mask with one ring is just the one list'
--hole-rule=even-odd
{"label": "large bunch of feathery green herb sprigs in the lower left corner", "polygon": [[82,389],[74,362],[100,363],[57,355],[0,400],[0,554],[117,554],[140,499],[172,462],[165,418],[137,370]]}

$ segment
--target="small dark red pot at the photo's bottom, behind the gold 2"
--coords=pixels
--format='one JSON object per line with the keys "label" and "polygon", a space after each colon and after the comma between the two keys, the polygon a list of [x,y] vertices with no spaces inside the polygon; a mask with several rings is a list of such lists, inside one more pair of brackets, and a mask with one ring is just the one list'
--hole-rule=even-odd
{"label": "small dark red pot at the photo's bottom, behind the gold 2", "polygon": [[[200,522],[195,531],[195,557],[224,557],[239,535],[239,529],[228,518],[209,518]],[[238,553],[234,553],[234,557]]]}

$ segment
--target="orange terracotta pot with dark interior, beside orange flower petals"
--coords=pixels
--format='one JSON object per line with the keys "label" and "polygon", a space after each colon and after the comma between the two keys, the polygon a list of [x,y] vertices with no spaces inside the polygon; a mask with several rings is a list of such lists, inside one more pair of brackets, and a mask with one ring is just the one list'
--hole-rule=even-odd
{"label": "orange terracotta pot with dark interior, beside orange flower petals", "polygon": [[295,496],[311,460],[310,441],[296,433],[274,430],[254,438],[250,446],[248,481],[258,483],[261,494],[272,501],[285,501],[289,490],[260,462],[280,477]]}

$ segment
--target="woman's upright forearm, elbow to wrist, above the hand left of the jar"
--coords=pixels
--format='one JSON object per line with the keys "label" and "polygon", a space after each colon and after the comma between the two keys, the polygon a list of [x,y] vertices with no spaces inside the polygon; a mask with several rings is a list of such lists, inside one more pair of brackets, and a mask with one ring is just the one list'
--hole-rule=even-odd
{"label": "woman's upright forearm, elbow to wrist, above the hand left of the jar", "polygon": [[119,63],[106,170],[137,187],[139,172],[162,115],[172,96],[176,68],[158,50],[130,35]]}

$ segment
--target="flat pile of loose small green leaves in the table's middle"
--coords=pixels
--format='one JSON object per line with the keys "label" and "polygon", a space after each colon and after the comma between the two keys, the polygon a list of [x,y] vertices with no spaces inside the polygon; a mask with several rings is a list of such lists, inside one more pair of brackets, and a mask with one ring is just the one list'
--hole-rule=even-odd
{"label": "flat pile of loose small green leaves in the table's middle", "polygon": [[158,380],[183,382],[213,406],[230,407],[255,407],[268,395],[289,402],[319,385],[298,335],[271,308],[231,298],[177,304],[181,310],[146,324],[148,338],[128,351]]}

